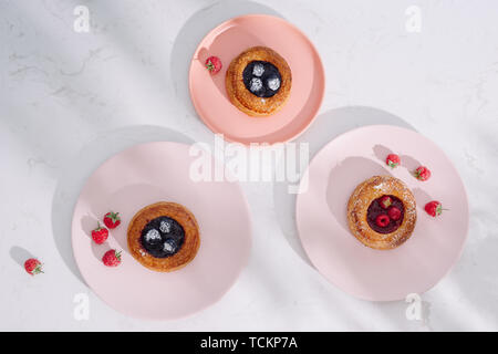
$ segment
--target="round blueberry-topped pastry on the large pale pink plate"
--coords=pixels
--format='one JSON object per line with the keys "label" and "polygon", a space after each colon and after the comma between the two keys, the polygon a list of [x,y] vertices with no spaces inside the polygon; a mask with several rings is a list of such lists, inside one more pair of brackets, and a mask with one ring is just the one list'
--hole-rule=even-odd
{"label": "round blueberry-topped pastry on the large pale pink plate", "polygon": [[129,222],[127,238],[132,256],[158,272],[185,267],[200,244],[194,215],[184,206],[167,201],[139,210]]}

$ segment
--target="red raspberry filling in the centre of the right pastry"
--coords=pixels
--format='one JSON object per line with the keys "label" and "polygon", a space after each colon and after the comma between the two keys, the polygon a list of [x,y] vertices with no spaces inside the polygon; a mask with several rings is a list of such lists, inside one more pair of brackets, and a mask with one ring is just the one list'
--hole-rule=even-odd
{"label": "red raspberry filling in the centre of the right pastry", "polygon": [[[391,201],[387,208],[385,208],[386,197]],[[395,196],[382,196],[373,200],[366,210],[369,226],[378,233],[396,231],[402,225],[404,216],[405,207],[403,201]]]}

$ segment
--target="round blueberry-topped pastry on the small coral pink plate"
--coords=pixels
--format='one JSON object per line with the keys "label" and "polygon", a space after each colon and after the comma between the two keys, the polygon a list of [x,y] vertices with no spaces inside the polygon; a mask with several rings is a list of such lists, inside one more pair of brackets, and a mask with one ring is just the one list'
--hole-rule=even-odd
{"label": "round blueberry-topped pastry on the small coral pink plate", "polygon": [[289,98],[292,75],[279,53],[267,46],[253,46],[231,61],[225,84],[237,108],[250,116],[268,116]]}

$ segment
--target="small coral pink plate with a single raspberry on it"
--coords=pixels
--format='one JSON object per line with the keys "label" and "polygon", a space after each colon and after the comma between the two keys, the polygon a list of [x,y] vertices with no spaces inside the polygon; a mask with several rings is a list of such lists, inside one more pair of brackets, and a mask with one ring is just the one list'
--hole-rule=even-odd
{"label": "small coral pink plate with a single raspberry on it", "polygon": [[[225,88],[231,60],[255,45],[280,53],[292,71],[289,101],[268,117],[250,117],[240,112],[230,103]],[[210,55],[222,62],[216,75],[205,67]],[[226,21],[206,35],[191,61],[189,86],[197,113],[212,132],[242,144],[272,144],[289,140],[310,125],[322,103],[325,79],[317,50],[300,30],[277,17],[250,14]]]}

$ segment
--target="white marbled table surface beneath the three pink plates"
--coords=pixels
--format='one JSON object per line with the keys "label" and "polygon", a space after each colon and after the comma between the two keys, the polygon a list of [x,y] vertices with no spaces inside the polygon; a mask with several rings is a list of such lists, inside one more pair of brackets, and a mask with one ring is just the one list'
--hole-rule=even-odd
{"label": "white marbled table surface beneath the three pink plates", "polygon": [[[89,33],[73,30],[79,4],[90,9]],[[406,29],[411,6],[419,32]],[[138,142],[212,142],[188,97],[189,59],[209,29],[243,13],[283,17],[318,46],[326,93],[300,138],[312,152],[355,126],[408,125],[459,169],[469,238],[453,271],[423,294],[424,321],[408,321],[403,301],[359,301],[328,283],[302,257],[292,198],[271,183],[242,185],[252,254],[208,310],[134,320],[81,280],[70,222],[84,180]],[[494,0],[1,0],[0,330],[498,330],[497,18]],[[29,253],[45,274],[23,272]],[[90,296],[89,320],[74,319],[79,293]]]}

